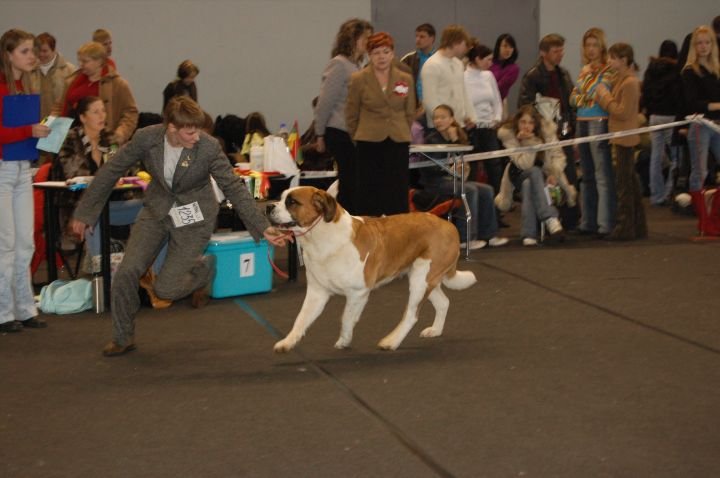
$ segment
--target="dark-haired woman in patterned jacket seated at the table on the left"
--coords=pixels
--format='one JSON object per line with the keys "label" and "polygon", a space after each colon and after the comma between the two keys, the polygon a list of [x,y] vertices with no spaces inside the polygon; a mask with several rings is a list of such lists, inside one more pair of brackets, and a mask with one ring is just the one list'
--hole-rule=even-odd
{"label": "dark-haired woman in patterned jacket seated at the table on the left", "polygon": [[[114,150],[110,147],[110,134],[105,130],[107,114],[103,101],[97,96],[80,99],[77,103],[76,115],[76,123],[79,124],[70,129],[62,149],[53,161],[50,177],[55,181],[94,176],[114,154]],[[63,236],[72,236],[65,234],[65,226],[79,199],[78,194],[68,193],[62,195],[59,200]],[[141,208],[140,199],[110,201],[110,224],[115,226],[132,224]],[[95,229],[93,232],[87,232],[85,245],[91,258],[99,256],[100,231]]]}

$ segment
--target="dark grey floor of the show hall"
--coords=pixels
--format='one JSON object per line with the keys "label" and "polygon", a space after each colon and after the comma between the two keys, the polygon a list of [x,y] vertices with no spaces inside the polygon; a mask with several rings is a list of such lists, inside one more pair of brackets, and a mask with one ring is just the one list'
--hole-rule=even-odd
{"label": "dark grey floor of the show hall", "polygon": [[335,298],[273,354],[302,271],[199,311],[144,308],[138,350],[113,359],[109,314],[47,316],[0,336],[0,476],[720,476],[720,242],[648,217],[645,241],[474,252],[443,336],[418,336],[427,305],[395,352],[376,343],[405,280],[373,292],[343,351]]}

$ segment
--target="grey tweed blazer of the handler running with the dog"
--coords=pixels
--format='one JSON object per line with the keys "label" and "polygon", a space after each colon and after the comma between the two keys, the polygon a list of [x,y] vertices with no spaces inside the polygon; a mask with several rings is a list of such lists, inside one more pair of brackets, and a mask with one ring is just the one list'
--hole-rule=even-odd
{"label": "grey tweed blazer of the handler running with the dog", "polygon": [[200,140],[192,149],[180,155],[172,188],[165,183],[163,174],[165,125],[148,126],[138,130],[132,140],[105,163],[83,194],[74,217],[85,224],[95,224],[118,178],[138,161],[153,180],[145,191],[143,211],[158,221],[163,220],[173,205],[197,201],[207,228],[214,228],[218,201],[213,192],[210,176],[215,178],[225,196],[232,202],[247,230],[259,240],[270,226],[259,211],[255,200],[239,177],[235,176],[227,157],[217,140],[200,133]]}

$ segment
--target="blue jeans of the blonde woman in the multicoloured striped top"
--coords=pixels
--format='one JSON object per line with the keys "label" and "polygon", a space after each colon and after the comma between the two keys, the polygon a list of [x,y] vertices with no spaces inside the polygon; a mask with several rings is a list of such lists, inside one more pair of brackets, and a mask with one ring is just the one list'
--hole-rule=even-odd
{"label": "blue jeans of the blonde woman in the multicoloured striped top", "polygon": [[[585,137],[608,132],[607,120],[577,122],[577,136]],[[615,226],[615,178],[610,146],[607,141],[593,141],[580,148],[580,229],[608,234]]]}

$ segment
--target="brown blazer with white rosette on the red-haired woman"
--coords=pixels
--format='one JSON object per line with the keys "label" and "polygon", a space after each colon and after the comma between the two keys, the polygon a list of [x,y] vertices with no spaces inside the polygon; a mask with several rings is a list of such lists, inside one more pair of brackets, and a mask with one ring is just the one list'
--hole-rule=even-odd
{"label": "brown blazer with white rosette on the red-haired woman", "polygon": [[414,116],[415,83],[408,73],[392,66],[384,93],[372,65],[353,73],[345,123],[355,141],[380,142],[389,137],[396,143],[409,143]]}

